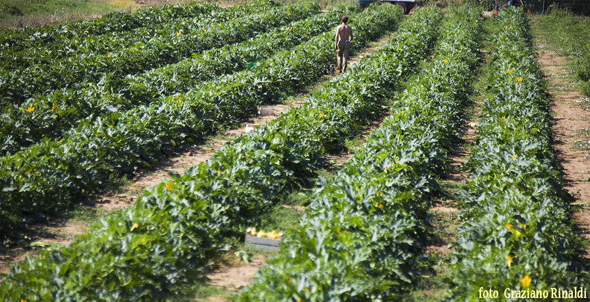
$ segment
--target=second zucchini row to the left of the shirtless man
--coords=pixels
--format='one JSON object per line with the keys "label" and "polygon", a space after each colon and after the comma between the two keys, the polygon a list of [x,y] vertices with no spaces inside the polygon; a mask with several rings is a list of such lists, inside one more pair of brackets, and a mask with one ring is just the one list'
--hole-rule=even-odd
{"label": "second zucchini row to the left of the shirtless man", "polygon": [[[19,106],[5,107],[0,115],[5,121],[0,125],[0,155],[21,150],[42,138],[60,138],[89,115],[106,113],[107,105],[126,111],[165,95],[185,93],[203,81],[240,71],[248,67],[248,62],[261,61],[276,51],[289,49],[328,31],[337,25],[342,15],[354,18],[356,10],[358,5],[355,4],[339,5],[326,14],[292,22],[240,44],[211,49],[178,64],[82,89],[62,89],[28,99]],[[27,108],[35,110],[29,112]]]}

